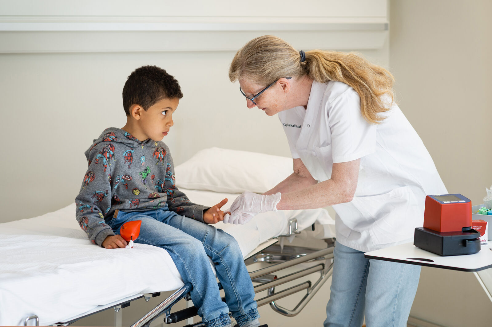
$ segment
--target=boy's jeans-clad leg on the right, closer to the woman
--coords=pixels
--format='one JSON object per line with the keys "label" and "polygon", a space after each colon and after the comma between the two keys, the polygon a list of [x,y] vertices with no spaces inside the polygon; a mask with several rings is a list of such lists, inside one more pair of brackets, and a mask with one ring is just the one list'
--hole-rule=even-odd
{"label": "boy's jeans-clad leg on the right, closer to the woman", "polygon": [[237,241],[223,230],[192,218],[173,216],[165,222],[203,244],[205,252],[215,264],[226,303],[239,326],[257,320],[260,315],[254,300],[253,284]]}

